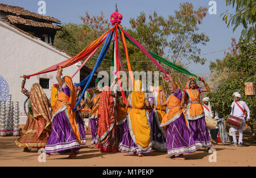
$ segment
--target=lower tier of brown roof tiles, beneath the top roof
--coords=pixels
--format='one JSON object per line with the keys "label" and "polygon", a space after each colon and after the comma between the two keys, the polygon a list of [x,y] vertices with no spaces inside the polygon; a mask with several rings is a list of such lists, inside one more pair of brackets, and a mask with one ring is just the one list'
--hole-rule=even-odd
{"label": "lower tier of brown roof tiles, beneath the top roof", "polygon": [[36,22],[31,19],[23,19],[20,16],[15,15],[6,15],[5,16],[10,22],[15,24],[23,24],[25,26],[33,26],[33,27],[44,27],[44,28],[55,28],[56,30],[59,30],[60,27],[56,26],[55,24],[51,23],[44,23],[44,22]]}

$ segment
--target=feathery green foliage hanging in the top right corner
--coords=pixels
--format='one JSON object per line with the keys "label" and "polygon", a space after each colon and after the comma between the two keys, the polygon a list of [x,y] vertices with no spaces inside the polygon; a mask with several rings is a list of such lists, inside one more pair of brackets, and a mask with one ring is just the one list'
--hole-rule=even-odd
{"label": "feathery green foliage hanging in the top right corner", "polygon": [[[236,6],[236,14],[226,13],[221,14],[222,20],[229,27],[233,26],[233,32],[240,25],[243,26],[240,40],[249,42],[250,39],[255,39],[256,35],[256,1],[255,0],[226,0],[226,6]],[[228,17],[229,16],[229,17]],[[229,18],[229,20],[228,20]]]}

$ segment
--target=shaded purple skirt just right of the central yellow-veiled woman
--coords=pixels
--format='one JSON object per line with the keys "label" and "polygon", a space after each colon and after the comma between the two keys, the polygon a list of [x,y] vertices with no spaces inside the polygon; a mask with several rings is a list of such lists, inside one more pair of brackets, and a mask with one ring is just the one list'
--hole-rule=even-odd
{"label": "shaded purple skirt just right of the central yellow-veiled woman", "polygon": [[163,127],[159,127],[160,121],[158,119],[157,111],[153,110],[150,114],[150,125],[152,131],[152,148],[155,150],[166,150],[166,133]]}

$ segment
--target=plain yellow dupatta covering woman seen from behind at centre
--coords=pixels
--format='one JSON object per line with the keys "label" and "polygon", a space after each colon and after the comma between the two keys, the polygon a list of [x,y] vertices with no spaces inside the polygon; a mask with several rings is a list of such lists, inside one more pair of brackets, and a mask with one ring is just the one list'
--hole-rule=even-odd
{"label": "plain yellow dupatta covering woman seen from behind at centre", "polygon": [[136,143],[142,147],[148,147],[150,143],[150,127],[146,111],[144,109],[145,93],[141,92],[141,81],[136,80],[133,85],[133,93],[131,93],[131,104],[133,108],[129,115],[131,119],[131,127],[135,135]]}

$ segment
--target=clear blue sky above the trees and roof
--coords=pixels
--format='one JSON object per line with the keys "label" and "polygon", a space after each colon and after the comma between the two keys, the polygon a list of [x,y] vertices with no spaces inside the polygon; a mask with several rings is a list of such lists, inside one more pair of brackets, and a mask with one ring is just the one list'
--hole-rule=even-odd
{"label": "clear blue sky above the trees and roof", "polygon": [[[0,3],[24,7],[24,9],[34,13],[38,13],[40,7],[38,2],[39,0],[0,0]],[[179,5],[183,2],[192,3],[194,7],[204,6],[208,9],[212,7],[212,5],[209,5],[210,0],[44,0],[44,2],[46,2],[46,15],[59,19],[63,24],[82,23],[80,16],[83,16],[86,11],[90,16],[100,15],[102,11],[105,18],[109,19],[110,15],[115,11],[115,3],[117,3],[119,13],[123,15],[121,24],[127,28],[130,27],[129,19],[136,18],[141,12],[148,15],[156,11],[158,15],[167,18],[168,15],[173,15],[175,10],[179,10]],[[207,55],[201,55],[201,57],[205,57],[207,60],[204,65],[195,63],[188,65],[189,71],[199,76],[208,76],[210,74],[210,61],[223,59],[225,56],[224,51],[220,50],[230,47],[231,38],[236,38],[238,42],[242,31],[240,26],[233,32],[232,27],[226,27],[225,22],[222,21],[222,16],[220,16],[226,10],[234,14],[234,9],[230,6],[227,7],[225,0],[215,0],[215,2],[216,14],[210,14],[208,11],[203,23],[199,25],[198,31],[199,34],[204,32],[205,35],[209,36],[207,45],[200,45],[201,54],[208,53]],[[188,64],[188,61],[184,60],[183,63]]]}

